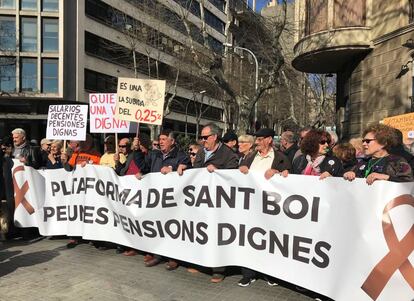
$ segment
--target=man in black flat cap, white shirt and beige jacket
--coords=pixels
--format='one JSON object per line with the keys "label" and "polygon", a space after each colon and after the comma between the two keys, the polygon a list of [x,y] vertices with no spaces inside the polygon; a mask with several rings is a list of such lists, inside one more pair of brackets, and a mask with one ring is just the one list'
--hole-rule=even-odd
{"label": "man in black flat cap, white shirt and beige jacket", "polygon": [[[291,163],[283,153],[273,146],[275,132],[272,129],[263,128],[254,135],[256,136],[256,150],[244,158],[240,163],[239,170],[244,174],[247,174],[249,170],[263,172],[267,180],[275,174],[286,177]],[[256,272],[253,270],[242,268],[242,275],[243,278],[239,281],[239,286],[249,286],[256,281]],[[265,278],[270,286],[277,285],[272,278]]]}

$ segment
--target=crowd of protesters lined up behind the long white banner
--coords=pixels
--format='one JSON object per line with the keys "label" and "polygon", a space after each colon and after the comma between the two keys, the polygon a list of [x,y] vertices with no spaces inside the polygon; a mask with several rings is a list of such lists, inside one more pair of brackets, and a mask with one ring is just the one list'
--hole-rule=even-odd
{"label": "crowd of protesters lined up behind the long white banner", "polygon": [[[104,153],[94,148],[93,137],[85,141],[70,141],[63,151],[62,141],[42,139],[40,146],[27,141],[23,129],[15,129],[11,137],[1,141],[1,198],[7,200],[3,214],[11,220],[14,211],[11,167],[18,159],[34,168],[73,170],[86,164],[100,164],[113,168],[119,176],[135,175],[140,180],[145,174],[177,172],[182,175],[190,168],[205,168],[209,172],[217,169],[239,169],[247,174],[250,170],[263,172],[266,180],[275,175],[288,177],[289,174],[327,177],[342,177],[353,181],[365,178],[371,185],[375,181],[411,182],[413,180],[414,155],[403,145],[399,130],[382,124],[368,126],[361,138],[338,142],[334,132],[321,129],[303,128],[297,132],[286,130],[275,143],[275,132],[262,128],[255,133],[237,136],[234,132],[221,135],[215,124],[202,128],[200,139],[191,142],[186,149],[179,147],[176,133],[164,129],[157,140],[151,141],[142,133],[135,138],[122,138],[115,145],[114,136],[104,140]],[[9,238],[19,229],[9,225]],[[23,233],[24,236],[24,233]],[[76,247],[83,241],[72,237],[68,248]],[[139,251],[125,246],[112,246],[105,242],[93,242],[99,249],[116,248],[118,254],[136,255]],[[146,254],[147,267],[166,262],[167,270],[174,270],[179,262],[157,254]],[[197,272],[202,267],[192,266],[189,271]],[[224,279],[225,267],[212,269],[211,282]],[[260,275],[253,270],[242,268],[240,286],[248,286]],[[277,285],[276,279],[261,275],[269,285]]]}

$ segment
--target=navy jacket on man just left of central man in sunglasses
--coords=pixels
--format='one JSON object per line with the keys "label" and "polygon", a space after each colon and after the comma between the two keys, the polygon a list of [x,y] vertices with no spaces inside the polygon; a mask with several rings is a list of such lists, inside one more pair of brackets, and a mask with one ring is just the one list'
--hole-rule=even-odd
{"label": "navy jacket on man just left of central man in sunglasses", "polygon": [[190,158],[185,152],[174,147],[164,158],[160,150],[152,150],[145,157],[145,172],[159,172],[164,166],[172,166],[176,171],[180,164],[184,164],[187,168],[191,167]]}

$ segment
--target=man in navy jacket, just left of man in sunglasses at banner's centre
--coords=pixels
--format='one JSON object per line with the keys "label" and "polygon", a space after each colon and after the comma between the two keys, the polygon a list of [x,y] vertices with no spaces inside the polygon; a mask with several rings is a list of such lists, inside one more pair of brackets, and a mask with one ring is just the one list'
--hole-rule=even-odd
{"label": "man in navy jacket, just left of man in sunglasses at banner's centre", "polygon": [[[185,169],[191,167],[190,158],[176,145],[176,135],[174,132],[168,129],[162,130],[158,141],[160,149],[153,149],[149,152],[145,158],[146,169],[144,172],[168,174],[177,171],[179,175],[182,175]],[[141,173],[137,174],[138,178],[141,178],[141,176]],[[153,267],[159,264],[161,260],[162,257],[160,255],[146,255],[144,263],[146,267]],[[177,267],[177,261],[172,259],[169,259],[165,265],[165,268],[169,271],[175,270]]]}

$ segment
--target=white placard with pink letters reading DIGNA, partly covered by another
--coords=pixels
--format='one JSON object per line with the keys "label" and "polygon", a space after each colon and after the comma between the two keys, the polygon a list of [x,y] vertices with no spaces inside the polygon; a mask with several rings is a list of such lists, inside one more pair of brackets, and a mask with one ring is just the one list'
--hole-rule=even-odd
{"label": "white placard with pink letters reading DIGNA, partly covered by another", "polygon": [[129,122],[115,118],[115,93],[89,94],[89,128],[91,133],[129,133]]}

